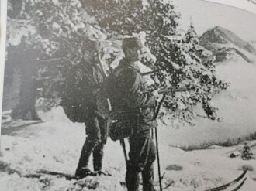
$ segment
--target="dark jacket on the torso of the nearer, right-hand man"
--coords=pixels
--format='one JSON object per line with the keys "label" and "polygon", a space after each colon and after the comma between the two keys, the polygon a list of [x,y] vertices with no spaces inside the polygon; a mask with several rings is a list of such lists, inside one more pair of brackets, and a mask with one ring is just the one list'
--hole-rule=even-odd
{"label": "dark jacket on the torso of the nearer, right-hand man", "polygon": [[157,125],[154,120],[156,99],[147,91],[140,70],[126,62],[121,60],[109,79],[110,100],[113,107],[118,107],[113,108],[116,118],[133,121],[133,132],[141,135]]}

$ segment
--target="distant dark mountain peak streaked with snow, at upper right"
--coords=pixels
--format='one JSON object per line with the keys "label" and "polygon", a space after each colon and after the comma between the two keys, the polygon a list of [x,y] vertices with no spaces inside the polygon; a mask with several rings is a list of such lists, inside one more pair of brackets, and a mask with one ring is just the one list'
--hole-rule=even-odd
{"label": "distant dark mountain peak streaked with snow, at upper right", "polygon": [[216,61],[230,60],[240,56],[248,63],[253,62],[250,55],[256,56],[256,49],[251,43],[247,43],[234,32],[215,26],[199,37],[200,44],[216,55]]}

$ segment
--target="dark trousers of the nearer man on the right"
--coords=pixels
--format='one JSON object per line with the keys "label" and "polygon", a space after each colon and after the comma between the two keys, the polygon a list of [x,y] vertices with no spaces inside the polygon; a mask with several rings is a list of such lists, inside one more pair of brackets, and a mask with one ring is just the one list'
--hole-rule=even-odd
{"label": "dark trousers of the nearer man on the right", "polygon": [[143,179],[144,191],[155,191],[153,163],[156,158],[156,148],[150,133],[147,136],[130,137],[129,161],[126,166],[126,186],[128,191],[139,189],[140,173]]}

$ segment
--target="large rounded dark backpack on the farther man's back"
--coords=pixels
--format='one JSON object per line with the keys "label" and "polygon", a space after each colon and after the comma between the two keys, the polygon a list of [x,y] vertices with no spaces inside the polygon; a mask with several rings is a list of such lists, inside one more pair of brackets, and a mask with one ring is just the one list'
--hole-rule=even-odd
{"label": "large rounded dark backpack on the farther man's back", "polygon": [[100,77],[101,71],[97,67],[89,68],[85,62],[67,72],[61,106],[71,121],[84,123],[88,113],[96,110],[92,92],[99,88]]}

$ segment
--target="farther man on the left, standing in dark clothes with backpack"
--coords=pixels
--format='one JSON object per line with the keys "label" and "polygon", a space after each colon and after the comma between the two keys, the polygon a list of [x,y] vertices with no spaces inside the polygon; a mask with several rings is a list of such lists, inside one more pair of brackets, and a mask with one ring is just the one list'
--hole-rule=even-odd
{"label": "farther man on the left, standing in dark clothes with backpack", "polygon": [[[102,173],[103,147],[108,137],[108,123],[97,114],[95,100],[99,84],[102,83],[104,77],[99,64],[99,44],[95,41],[87,40],[85,46],[84,60],[78,64],[78,67],[81,69],[80,73],[83,73],[81,75],[81,85],[78,87],[81,88],[82,93],[81,95],[77,95],[78,97],[82,97],[81,100],[83,103],[79,104],[79,107],[83,112],[74,114],[76,115],[74,118],[81,118],[79,120],[85,122],[87,135],[75,172],[75,176],[78,179],[88,175]],[[88,161],[91,154],[93,155],[93,167],[95,172],[91,172],[91,170],[88,169]]]}

